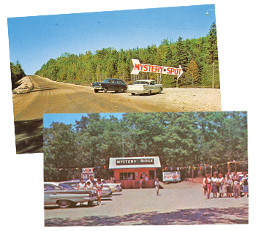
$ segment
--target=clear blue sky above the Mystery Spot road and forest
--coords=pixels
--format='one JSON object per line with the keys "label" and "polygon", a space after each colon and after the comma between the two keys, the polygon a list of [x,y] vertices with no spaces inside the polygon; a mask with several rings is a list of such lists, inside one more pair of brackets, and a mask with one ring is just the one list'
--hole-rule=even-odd
{"label": "clear blue sky above the Mystery Spot road and forest", "polygon": [[[224,10],[205,15],[207,10],[224,8],[224,4],[181,5],[8,4],[7,61],[18,60],[26,75],[34,75],[42,64],[61,53],[146,48],[163,39],[176,42],[180,36],[203,37],[214,21],[224,23]],[[158,8],[130,10],[146,7]]]}

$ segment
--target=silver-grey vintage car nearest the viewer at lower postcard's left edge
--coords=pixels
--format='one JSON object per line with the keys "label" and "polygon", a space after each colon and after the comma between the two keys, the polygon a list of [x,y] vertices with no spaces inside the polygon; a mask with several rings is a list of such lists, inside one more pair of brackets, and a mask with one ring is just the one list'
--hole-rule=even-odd
{"label": "silver-grey vintage car nearest the viewer at lower postcard's left edge", "polygon": [[92,205],[97,200],[96,190],[78,190],[61,186],[59,182],[42,183],[42,205],[59,205],[60,208],[74,207],[78,202]]}

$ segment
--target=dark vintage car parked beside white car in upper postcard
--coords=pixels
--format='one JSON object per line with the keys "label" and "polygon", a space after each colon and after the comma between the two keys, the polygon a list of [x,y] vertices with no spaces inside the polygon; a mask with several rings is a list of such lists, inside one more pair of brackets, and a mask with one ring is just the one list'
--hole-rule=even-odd
{"label": "dark vintage car parked beside white car in upper postcard", "polygon": [[94,88],[94,92],[97,93],[99,91],[107,92],[107,91],[126,91],[127,85],[123,80],[119,79],[105,79],[103,82],[91,83],[91,87]]}

